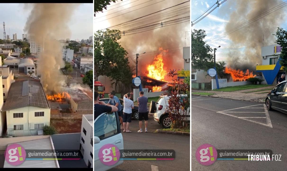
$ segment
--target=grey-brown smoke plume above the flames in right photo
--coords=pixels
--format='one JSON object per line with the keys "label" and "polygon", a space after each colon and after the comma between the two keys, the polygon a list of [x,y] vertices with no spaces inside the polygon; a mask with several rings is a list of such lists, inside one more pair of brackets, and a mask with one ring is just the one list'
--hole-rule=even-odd
{"label": "grey-brown smoke plume above the flames in right photo", "polygon": [[[225,27],[226,32],[281,3],[281,0],[229,1],[228,5],[221,9],[221,11],[232,10],[232,12],[230,11],[230,20]],[[228,59],[231,59],[229,66],[234,69],[251,69],[255,71],[255,66],[262,63],[261,47],[263,46],[263,34],[264,46],[275,44],[276,37],[272,34],[276,33],[277,27],[280,27],[280,24],[284,21],[283,17],[283,9],[279,9],[229,34],[228,38],[232,41],[230,48],[235,49],[230,50],[228,54]],[[245,48],[243,53],[240,50],[236,50],[239,47]]]}

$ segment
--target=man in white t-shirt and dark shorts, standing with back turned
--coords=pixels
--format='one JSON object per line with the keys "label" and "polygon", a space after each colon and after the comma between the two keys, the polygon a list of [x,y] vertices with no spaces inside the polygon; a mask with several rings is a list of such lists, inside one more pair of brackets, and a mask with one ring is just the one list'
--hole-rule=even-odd
{"label": "man in white t-shirt and dark shorts, standing with back turned", "polygon": [[131,101],[131,95],[133,93],[127,93],[124,95],[124,109],[123,109],[123,132],[130,133],[129,124],[131,123],[131,110],[134,108],[133,101]]}

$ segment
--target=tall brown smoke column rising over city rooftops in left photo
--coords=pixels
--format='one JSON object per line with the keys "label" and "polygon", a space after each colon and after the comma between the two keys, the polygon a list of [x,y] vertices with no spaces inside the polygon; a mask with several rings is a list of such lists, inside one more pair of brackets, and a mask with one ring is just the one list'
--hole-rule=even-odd
{"label": "tall brown smoke column rising over city rooftops in left photo", "polygon": [[65,67],[62,46],[56,39],[70,37],[68,22],[76,4],[44,3],[32,4],[32,11],[24,31],[29,41],[41,45],[38,54],[37,75],[41,76],[43,88],[48,93],[61,92],[66,85],[60,68]]}

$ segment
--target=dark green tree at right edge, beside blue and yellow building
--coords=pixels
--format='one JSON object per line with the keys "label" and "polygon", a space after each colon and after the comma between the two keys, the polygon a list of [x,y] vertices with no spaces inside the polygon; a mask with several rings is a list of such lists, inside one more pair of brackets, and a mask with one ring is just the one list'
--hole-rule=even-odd
{"label": "dark green tree at right edge, beside blue and yellow building", "polygon": [[280,44],[282,47],[281,54],[277,55],[281,58],[279,64],[283,67],[284,71],[287,71],[287,32],[283,28],[278,27],[275,36],[277,38],[275,43]]}

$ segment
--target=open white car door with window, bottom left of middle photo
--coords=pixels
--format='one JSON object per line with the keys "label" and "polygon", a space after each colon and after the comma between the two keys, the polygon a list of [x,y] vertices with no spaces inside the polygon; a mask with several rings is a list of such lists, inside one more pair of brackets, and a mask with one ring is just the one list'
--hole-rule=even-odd
{"label": "open white car door with window, bottom left of middle photo", "polygon": [[109,170],[123,163],[123,160],[118,160],[112,166],[107,166],[101,162],[98,154],[106,144],[113,144],[119,150],[124,149],[119,116],[115,112],[102,113],[94,120],[94,168],[97,171]]}

